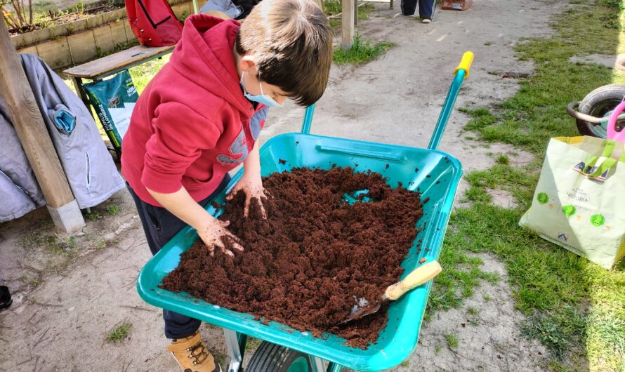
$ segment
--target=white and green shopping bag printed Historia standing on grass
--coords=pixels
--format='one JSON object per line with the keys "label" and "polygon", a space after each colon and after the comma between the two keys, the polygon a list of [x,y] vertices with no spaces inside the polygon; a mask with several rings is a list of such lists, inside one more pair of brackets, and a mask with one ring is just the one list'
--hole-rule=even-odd
{"label": "white and green shopping bag printed Historia standing on grass", "polygon": [[625,255],[624,147],[588,136],[552,138],[519,225],[612,268]]}

